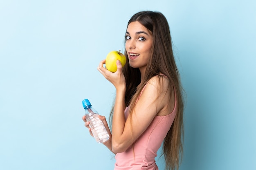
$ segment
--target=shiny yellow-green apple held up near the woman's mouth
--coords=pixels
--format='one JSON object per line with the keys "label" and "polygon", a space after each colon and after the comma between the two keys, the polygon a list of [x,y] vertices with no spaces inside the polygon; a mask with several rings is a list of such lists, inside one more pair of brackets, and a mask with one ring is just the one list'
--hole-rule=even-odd
{"label": "shiny yellow-green apple held up near the woman's mouth", "polygon": [[117,71],[117,60],[122,64],[122,67],[126,63],[126,57],[120,51],[111,51],[106,57],[106,68],[111,72]]}

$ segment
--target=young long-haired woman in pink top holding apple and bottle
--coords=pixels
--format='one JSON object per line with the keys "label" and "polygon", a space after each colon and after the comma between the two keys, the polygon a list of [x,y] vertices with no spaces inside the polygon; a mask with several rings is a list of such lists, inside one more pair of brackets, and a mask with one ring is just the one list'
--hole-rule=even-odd
{"label": "young long-haired woman in pink top holding apple and bottle", "polygon": [[[112,133],[104,143],[116,154],[115,170],[158,170],[157,150],[163,143],[166,169],[179,168],[183,139],[183,98],[168,22],[159,12],[142,11],[128,22],[126,65],[117,72],[98,66],[116,88],[110,114]],[[89,128],[85,120],[85,126]],[[91,129],[89,132],[92,135]]]}

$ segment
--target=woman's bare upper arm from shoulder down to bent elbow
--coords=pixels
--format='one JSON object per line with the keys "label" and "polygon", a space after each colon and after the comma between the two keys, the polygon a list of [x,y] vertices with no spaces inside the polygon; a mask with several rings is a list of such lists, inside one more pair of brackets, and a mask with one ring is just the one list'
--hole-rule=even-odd
{"label": "woman's bare upper arm from shoulder down to bent elbow", "polygon": [[121,151],[126,150],[139,138],[157,113],[164,107],[163,96],[165,93],[163,92],[166,92],[166,82],[158,80],[157,77],[150,79],[137,100],[132,113],[129,113],[120,139],[122,143]]}

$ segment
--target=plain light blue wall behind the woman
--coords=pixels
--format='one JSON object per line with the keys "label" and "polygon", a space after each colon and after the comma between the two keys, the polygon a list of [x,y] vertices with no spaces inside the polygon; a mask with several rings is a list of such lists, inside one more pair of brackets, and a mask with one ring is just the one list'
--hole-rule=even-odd
{"label": "plain light blue wall behind the woman", "polygon": [[141,10],[161,11],[171,27],[186,91],[180,170],[256,169],[254,0],[0,0],[1,169],[114,168],[81,102],[108,117],[115,89],[97,66],[124,51]]}

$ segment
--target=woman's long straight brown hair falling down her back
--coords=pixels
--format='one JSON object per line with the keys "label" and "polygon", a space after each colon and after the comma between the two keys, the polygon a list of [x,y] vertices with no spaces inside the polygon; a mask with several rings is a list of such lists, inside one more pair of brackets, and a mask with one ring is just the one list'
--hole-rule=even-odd
{"label": "woman's long straight brown hair falling down her back", "polygon": [[[141,82],[139,68],[132,68],[130,66],[127,51],[125,51],[127,62],[124,68],[122,69],[124,76],[126,78],[125,104],[126,107],[130,105],[131,109],[134,108],[136,99],[141,93],[142,88],[152,77],[158,75],[160,81],[160,77],[162,77],[160,73],[162,73],[168,78],[169,89],[174,89],[176,93],[177,113],[173,121],[173,124],[164,139],[164,144],[162,148],[166,162],[166,169],[179,169],[180,159],[182,158],[183,152],[182,144],[184,135],[184,104],[182,95],[183,89],[180,83],[180,74],[177,69],[173,55],[169,25],[165,16],[162,13],[153,11],[141,11],[136,13],[129,20],[128,25],[131,22],[135,21],[140,22],[149,31],[151,31],[153,36],[153,44],[151,47],[151,56],[148,61],[145,79],[143,80],[143,82]],[[141,86],[138,87],[140,83]],[[172,90],[168,90],[168,92],[173,93]],[[111,121],[113,108],[110,113],[110,125],[112,124]]]}

